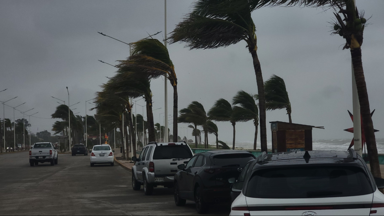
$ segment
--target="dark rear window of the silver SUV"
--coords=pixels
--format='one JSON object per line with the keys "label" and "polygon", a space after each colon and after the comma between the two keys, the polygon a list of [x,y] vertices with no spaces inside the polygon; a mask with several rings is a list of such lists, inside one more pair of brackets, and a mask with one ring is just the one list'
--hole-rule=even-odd
{"label": "dark rear window of the silver SUV", "polygon": [[153,152],[153,160],[191,158],[192,152],[187,145],[160,145]]}

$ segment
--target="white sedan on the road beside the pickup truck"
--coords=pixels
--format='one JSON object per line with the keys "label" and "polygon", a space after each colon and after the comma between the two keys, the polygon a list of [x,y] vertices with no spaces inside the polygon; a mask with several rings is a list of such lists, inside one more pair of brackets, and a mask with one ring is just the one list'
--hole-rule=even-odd
{"label": "white sedan on the road beside the pickup truck", "polygon": [[111,150],[111,146],[108,144],[102,144],[102,145],[95,145],[93,146],[92,152],[91,152],[91,167],[95,163],[101,164],[101,163],[109,163],[111,166],[114,165],[114,156],[113,156],[114,150]]}

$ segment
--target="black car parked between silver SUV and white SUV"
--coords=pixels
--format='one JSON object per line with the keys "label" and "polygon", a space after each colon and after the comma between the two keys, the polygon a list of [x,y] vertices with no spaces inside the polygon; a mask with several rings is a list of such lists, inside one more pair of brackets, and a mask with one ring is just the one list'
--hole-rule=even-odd
{"label": "black car parked between silver SUV and white SUV", "polygon": [[255,156],[242,150],[215,150],[194,155],[174,177],[175,204],[195,201],[198,213],[204,213],[213,203],[231,201],[230,186],[242,169]]}

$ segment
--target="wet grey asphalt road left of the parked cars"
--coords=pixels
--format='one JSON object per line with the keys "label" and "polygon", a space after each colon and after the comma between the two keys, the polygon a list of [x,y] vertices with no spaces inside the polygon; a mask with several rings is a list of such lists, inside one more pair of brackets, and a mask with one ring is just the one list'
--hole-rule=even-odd
{"label": "wet grey asphalt road left of the parked cars", "polygon": [[[209,214],[228,215],[229,206]],[[30,167],[28,152],[0,155],[0,215],[197,215],[193,202],[175,206],[173,189],[151,196],[132,190],[117,163],[89,166],[89,156],[60,154],[58,165]]]}

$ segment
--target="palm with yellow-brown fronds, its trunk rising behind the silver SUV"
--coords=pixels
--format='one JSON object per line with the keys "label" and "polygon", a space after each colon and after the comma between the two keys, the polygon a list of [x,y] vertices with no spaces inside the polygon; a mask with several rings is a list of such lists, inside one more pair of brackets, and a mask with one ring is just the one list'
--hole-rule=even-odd
{"label": "palm with yellow-brown fronds, its trunk rising behind the silver SUV", "polygon": [[132,43],[132,55],[120,62],[119,71],[145,74],[148,79],[166,77],[173,87],[173,142],[177,142],[177,77],[168,49],[159,40],[149,38]]}

